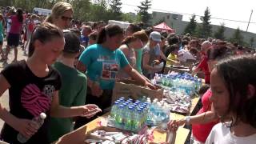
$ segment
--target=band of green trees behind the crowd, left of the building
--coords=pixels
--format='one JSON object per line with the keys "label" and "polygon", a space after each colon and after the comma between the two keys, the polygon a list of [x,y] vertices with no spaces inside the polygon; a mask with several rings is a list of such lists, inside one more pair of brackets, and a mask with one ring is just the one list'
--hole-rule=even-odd
{"label": "band of green trees behind the crowd, left of the building", "polygon": [[[133,18],[130,14],[122,13],[121,0],[0,0],[0,6],[21,7],[31,13],[34,7],[52,9],[54,4],[60,1],[69,2],[74,9],[74,18],[81,21],[107,22],[110,19],[129,22],[140,21],[140,18]],[[150,14],[146,16],[145,12],[147,12],[151,4],[149,0],[144,3],[146,4],[146,9],[142,8],[143,10],[140,14],[146,20],[150,19]]]}

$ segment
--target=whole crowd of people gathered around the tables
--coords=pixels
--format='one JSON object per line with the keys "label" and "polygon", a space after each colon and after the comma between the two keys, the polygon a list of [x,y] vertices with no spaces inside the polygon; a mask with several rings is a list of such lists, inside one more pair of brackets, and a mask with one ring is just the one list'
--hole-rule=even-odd
{"label": "whole crowd of people gathered around the tables", "polygon": [[[191,143],[256,142],[254,50],[215,38],[145,29],[142,23],[122,30],[105,22],[80,22],[73,12],[66,2],[56,3],[47,17],[14,7],[2,10],[0,95],[9,90],[10,97],[10,111],[0,105],[2,141],[20,143],[21,133],[30,138],[27,143],[55,142],[106,114],[119,79],[157,90],[150,82],[154,74],[190,62],[191,74],[202,71],[207,84],[200,92],[202,108],[194,116],[170,121],[169,130],[192,125]],[[18,61],[18,46],[28,54],[26,60]],[[8,64],[12,49],[14,60]],[[38,129],[31,119],[42,112],[47,117]]]}

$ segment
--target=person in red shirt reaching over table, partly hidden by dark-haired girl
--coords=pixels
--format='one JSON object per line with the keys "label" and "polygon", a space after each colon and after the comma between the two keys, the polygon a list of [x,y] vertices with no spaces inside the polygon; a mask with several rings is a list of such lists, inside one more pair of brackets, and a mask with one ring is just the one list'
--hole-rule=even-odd
{"label": "person in red shirt reaching over table, partly hidden by dark-haired girl", "polygon": [[[209,70],[213,70],[218,60],[227,56],[226,47],[210,48],[207,52]],[[204,143],[210,134],[210,130],[218,123],[217,114],[214,113],[210,98],[212,92],[210,89],[202,95],[202,108],[194,116],[188,116],[177,121],[170,121],[168,127],[170,130],[177,130],[178,126],[185,123],[192,125],[191,143]]]}

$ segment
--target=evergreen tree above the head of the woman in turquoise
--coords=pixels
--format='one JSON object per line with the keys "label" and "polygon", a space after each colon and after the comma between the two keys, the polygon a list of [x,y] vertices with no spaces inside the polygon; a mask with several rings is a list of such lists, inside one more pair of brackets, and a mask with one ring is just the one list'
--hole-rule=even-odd
{"label": "evergreen tree above the head of the woman in turquoise", "polygon": [[122,20],[122,2],[121,0],[110,1],[110,16],[114,20]]}

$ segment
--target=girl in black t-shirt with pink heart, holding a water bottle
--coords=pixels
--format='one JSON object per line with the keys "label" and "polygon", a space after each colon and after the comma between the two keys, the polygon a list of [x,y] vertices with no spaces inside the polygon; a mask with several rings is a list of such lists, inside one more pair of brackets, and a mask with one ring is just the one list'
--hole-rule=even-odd
{"label": "girl in black t-shirt with pink heart, holding a water bottle", "polygon": [[[98,106],[64,107],[58,104],[61,78],[50,66],[64,48],[62,30],[50,23],[34,29],[29,44],[29,58],[10,64],[0,74],[0,95],[9,89],[10,111],[0,105],[0,118],[5,121],[1,139],[9,143],[20,143],[18,133],[30,138],[26,143],[49,143],[47,129],[50,116],[68,118],[92,117]],[[41,113],[46,119],[37,130],[31,121]]]}

